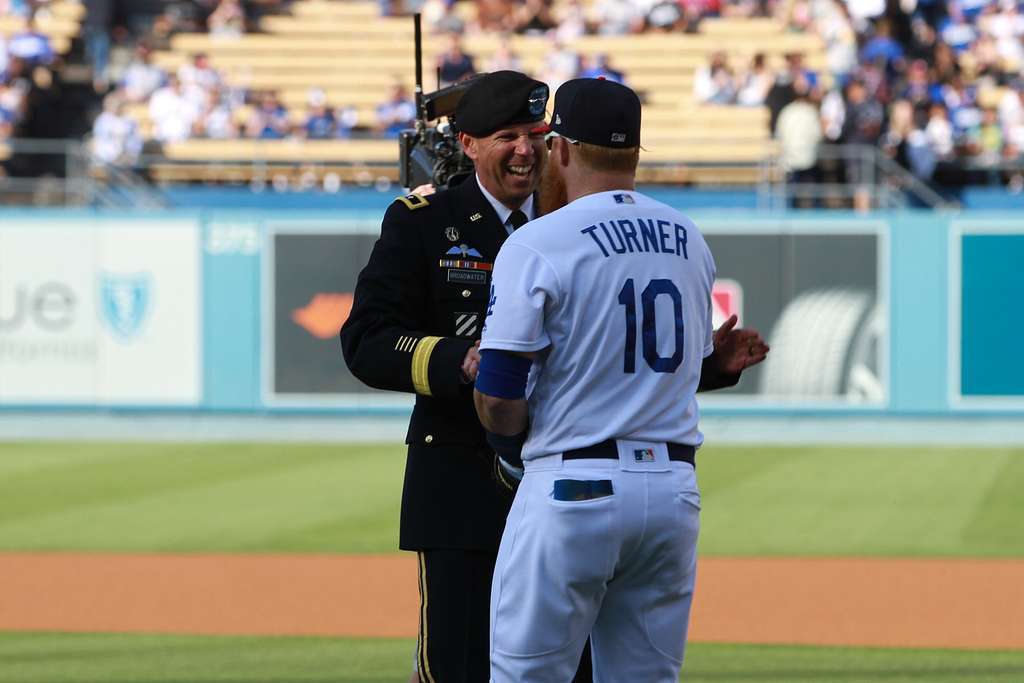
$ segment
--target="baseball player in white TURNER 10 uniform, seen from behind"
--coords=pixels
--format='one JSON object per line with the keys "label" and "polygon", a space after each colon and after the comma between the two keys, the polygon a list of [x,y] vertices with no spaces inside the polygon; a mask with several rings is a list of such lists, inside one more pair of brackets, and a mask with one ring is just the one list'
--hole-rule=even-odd
{"label": "baseball player in white TURNER 10 uniform, seen from behind", "polygon": [[499,253],[474,394],[524,471],[492,583],[492,681],[565,683],[590,634],[595,682],[674,682],[696,568],[695,393],[768,347],[733,319],[715,349],[703,237],[635,190],[632,90],[568,81],[551,131],[544,186],[568,204]]}

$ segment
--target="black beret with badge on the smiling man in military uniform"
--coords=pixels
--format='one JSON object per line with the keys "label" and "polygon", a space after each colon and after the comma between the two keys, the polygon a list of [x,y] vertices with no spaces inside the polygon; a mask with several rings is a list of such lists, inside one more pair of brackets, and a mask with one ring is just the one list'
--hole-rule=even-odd
{"label": "black beret with badge on the smiling man in military uniform", "polygon": [[496,71],[475,79],[455,110],[455,127],[484,137],[503,126],[544,120],[548,86],[525,74]]}

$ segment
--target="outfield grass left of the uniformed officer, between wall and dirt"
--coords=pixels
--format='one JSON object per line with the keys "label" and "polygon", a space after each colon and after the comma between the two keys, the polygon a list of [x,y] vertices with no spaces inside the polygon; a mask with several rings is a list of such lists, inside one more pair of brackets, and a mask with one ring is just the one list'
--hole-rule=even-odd
{"label": "outfield grass left of the uniformed officer, between wall and dirt", "polygon": [[[76,444],[57,443],[56,452]],[[0,480],[0,549],[387,552],[396,545],[396,446],[90,445]],[[14,465],[16,467],[16,465]]]}

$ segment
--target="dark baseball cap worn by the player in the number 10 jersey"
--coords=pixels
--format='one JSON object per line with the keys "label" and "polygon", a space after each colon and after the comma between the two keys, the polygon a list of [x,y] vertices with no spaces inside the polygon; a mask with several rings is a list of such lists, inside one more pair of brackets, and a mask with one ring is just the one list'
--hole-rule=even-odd
{"label": "dark baseball cap worn by the player in the number 10 jersey", "polygon": [[640,145],[640,98],[630,88],[600,78],[566,81],[555,93],[551,130],[602,147]]}

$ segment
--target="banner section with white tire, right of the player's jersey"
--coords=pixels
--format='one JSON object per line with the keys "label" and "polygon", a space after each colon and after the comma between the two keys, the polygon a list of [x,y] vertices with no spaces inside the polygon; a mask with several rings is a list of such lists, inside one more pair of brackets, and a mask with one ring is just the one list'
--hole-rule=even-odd
{"label": "banner section with white tire, right of the player's jersey", "polygon": [[757,329],[771,346],[736,387],[702,399],[757,396],[809,405],[888,399],[884,226],[856,226],[829,223],[814,232],[794,223],[750,231],[701,225],[718,268],[715,327],[735,312],[741,327]]}

